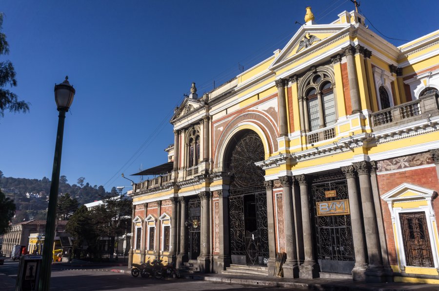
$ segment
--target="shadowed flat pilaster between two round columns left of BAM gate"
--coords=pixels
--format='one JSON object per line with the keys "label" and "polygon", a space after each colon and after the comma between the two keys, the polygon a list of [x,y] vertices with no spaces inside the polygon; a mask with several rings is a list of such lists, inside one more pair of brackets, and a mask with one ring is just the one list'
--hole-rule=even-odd
{"label": "shadowed flat pilaster between two round columns left of BAM gate", "polygon": [[295,177],[292,177],[293,190],[293,213],[294,227],[296,229],[296,247],[298,264],[301,265],[305,259],[303,252],[303,227],[302,227],[302,209],[300,203],[300,189]]}

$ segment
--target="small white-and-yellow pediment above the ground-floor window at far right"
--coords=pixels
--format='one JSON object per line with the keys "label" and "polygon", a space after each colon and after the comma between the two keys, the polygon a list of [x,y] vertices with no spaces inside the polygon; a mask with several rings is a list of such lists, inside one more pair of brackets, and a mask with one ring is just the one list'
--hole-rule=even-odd
{"label": "small white-and-yellow pediment above the ground-floor window at far right", "polygon": [[410,183],[402,183],[381,196],[384,201],[424,200],[431,199],[436,192]]}

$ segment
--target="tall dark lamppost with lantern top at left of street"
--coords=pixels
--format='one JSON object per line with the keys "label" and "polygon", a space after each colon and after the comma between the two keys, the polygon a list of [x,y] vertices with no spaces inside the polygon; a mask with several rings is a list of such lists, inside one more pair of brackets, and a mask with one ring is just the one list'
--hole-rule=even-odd
{"label": "tall dark lamppost with lantern top at left of street", "polygon": [[55,156],[53,159],[52,182],[50,184],[49,206],[47,208],[46,231],[44,233],[44,245],[42,251],[42,262],[40,271],[40,291],[48,291],[50,287],[50,274],[52,271],[52,251],[53,239],[55,236],[55,222],[57,219],[57,200],[58,186],[60,184],[60,167],[61,167],[61,150],[62,136],[64,134],[64,119],[72,105],[75,89],[70,85],[68,76],[64,82],[59,85],[55,84],[55,101],[57,109],[60,112],[58,116],[57,142],[55,145]]}

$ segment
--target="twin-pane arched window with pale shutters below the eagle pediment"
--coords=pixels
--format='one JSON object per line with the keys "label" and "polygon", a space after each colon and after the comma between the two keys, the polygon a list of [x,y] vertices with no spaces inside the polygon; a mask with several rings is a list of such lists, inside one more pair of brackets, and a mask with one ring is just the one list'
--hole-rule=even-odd
{"label": "twin-pane arched window with pale shutters below the eagle pediment", "polygon": [[309,125],[309,130],[314,131],[334,125],[337,119],[336,106],[332,87],[333,80],[328,72],[317,71],[317,73],[305,75],[304,80],[301,87],[307,103],[304,106],[307,106],[308,109],[308,116],[305,116],[308,119],[305,120],[305,127]]}

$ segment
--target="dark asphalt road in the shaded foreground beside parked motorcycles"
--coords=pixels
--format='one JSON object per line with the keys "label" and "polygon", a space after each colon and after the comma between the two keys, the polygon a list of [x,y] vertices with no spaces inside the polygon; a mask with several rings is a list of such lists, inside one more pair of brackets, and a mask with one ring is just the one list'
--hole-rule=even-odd
{"label": "dark asphalt road in the shaded foreground beside parked motorcycles", "polygon": [[[188,279],[161,279],[134,278],[130,274],[106,271],[112,267],[78,267],[80,270],[65,270],[66,266],[53,265],[50,289],[57,291],[101,291],[101,290],[139,290],[148,289],[154,291],[204,291],[204,290],[228,290],[228,291],[265,291],[273,288],[258,286],[244,286],[239,284],[217,283],[211,281],[188,280]],[[76,267],[72,267],[76,268]],[[94,269],[98,269],[96,271]],[[17,279],[18,262],[6,260],[0,266],[0,290],[14,291]],[[103,270],[103,271],[102,271]]]}

